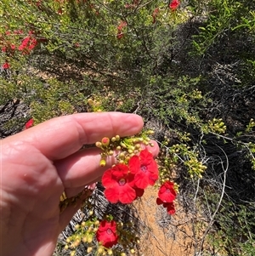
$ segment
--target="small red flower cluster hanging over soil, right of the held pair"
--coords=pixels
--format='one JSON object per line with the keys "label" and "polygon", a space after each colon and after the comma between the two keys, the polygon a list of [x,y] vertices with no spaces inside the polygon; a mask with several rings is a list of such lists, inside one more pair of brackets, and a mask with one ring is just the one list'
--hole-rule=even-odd
{"label": "small red flower cluster hanging over soil, right of the held pair", "polygon": [[175,208],[173,200],[176,197],[176,191],[173,187],[173,182],[167,181],[161,185],[160,190],[158,191],[158,198],[156,198],[157,205],[163,205],[164,208],[167,208],[167,213],[174,214]]}

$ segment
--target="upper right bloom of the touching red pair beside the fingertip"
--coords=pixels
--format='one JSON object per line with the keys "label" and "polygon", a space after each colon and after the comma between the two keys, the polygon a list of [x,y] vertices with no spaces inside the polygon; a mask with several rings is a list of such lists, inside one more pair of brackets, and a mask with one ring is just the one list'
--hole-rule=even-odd
{"label": "upper right bloom of the touching red pair beside the fingertip", "polygon": [[148,185],[155,185],[158,179],[156,161],[148,150],[140,152],[139,156],[132,156],[128,162],[130,172],[134,174],[134,185],[145,189]]}

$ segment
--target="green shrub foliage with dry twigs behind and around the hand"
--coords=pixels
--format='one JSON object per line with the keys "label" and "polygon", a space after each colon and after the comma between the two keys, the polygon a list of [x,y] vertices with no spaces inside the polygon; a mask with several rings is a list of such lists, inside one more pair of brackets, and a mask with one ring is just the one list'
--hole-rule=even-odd
{"label": "green shrub foliage with dry twigs behind and around the hand", "polygon": [[[1,0],[0,20],[0,63],[10,65],[1,138],[30,117],[138,113],[156,130],[161,180],[174,179],[178,202],[203,217],[194,255],[255,253],[252,1],[190,0],[172,12],[160,0]],[[19,50],[28,35],[36,47]]]}

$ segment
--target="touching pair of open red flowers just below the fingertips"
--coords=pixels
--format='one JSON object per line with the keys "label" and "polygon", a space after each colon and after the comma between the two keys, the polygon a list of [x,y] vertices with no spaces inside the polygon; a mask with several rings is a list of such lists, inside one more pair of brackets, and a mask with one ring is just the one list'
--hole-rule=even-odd
{"label": "touching pair of open red flowers just below the fingertips", "polygon": [[105,171],[102,184],[105,186],[105,197],[109,202],[131,203],[143,196],[148,185],[155,185],[158,179],[158,168],[148,150],[132,156],[127,165],[118,163]]}

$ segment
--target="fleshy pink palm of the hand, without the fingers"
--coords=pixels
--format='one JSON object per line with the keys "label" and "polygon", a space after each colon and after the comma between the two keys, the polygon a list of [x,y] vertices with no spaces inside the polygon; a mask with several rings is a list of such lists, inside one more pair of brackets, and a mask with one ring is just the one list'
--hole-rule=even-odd
{"label": "fleshy pink palm of the hand, without the fingers", "polygon": [[[53,162],[31,145],[12,146],[9,153],[8,175],[2,179],[2,185],[6,185],[2,186],[2,203],[8,208],[1,219],[1,230],[7,230],[2,234],[2,242],[8,247],[2,253],[50,255],[59,232],[69,220],[66,214],[59,215],[59,197],[64,185]],[[7,170],[4,162],[3,170]]]}

